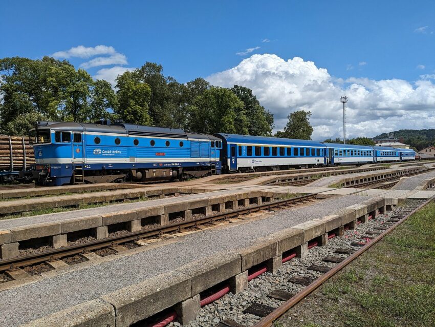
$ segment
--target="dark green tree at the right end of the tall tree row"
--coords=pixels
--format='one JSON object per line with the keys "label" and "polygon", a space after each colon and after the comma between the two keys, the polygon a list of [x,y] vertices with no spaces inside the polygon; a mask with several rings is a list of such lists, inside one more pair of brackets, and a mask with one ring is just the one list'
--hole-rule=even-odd
{"label": "dark green tree at the right end of the tall tree row", "polygon": [[248,134],[271,136],[274,126],[273,115],[260,105],[256,96],[252,94],[252,90],[234,85],[231,91],[244,103],[245,115],[248,120]]}

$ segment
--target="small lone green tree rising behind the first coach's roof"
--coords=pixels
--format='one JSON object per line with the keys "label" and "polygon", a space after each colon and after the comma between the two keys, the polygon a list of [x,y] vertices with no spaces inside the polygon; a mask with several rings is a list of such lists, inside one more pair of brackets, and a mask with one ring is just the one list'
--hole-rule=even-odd
{"label": "small lone green tree rising behind the first coach's roof", "polygon": [[275,137],[295,138],[295,139],[309,139],[313,134],[313,127],[310,125],[311,111],[295,111],[292,112],[287,118],[286,127],[284,132],[278,131]]}

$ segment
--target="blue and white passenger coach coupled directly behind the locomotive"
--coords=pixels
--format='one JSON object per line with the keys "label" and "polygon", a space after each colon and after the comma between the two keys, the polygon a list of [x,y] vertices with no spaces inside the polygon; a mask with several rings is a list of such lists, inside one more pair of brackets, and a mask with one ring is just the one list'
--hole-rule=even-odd
{"label": "blue and white passenger coach coupled directly behind the locomotive", "polygon": [[326,147],[320,142],[289,138],[214,134],[222,139],[224,172],[284,170],[291,166],[326,165]]}

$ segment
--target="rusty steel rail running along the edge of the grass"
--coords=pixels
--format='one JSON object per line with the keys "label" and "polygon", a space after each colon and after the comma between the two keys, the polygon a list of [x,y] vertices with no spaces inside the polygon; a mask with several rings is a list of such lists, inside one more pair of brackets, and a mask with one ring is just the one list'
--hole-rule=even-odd
{"label": "rusty steel rail running along the edge of the grass", "polygon": [[388,228],[384,233],[376,236],[373,240],[366,243],[365,246],[360,248],[358,251],[356,251],[354,254],[350,255],[340,263],[338,263],[334,268],[332,268],[330,271],[325,273],[324,275],[317,278],[313,283],[308,285],[305,289],[297,293],[295,296],[293,296],[291,299],[286,301],[284,304],[279,306],[276,310],[271,312],[269,315],[264,317],[262,320],[257,322],[254,327],[269,327],[273,324],[273,322],[284,315],[287,311],[289,311],[293,306],[298,304],[300,301],[305,299],[307,296],[309,296],[311,293],[313,293],[316,289],[320,287],[325,281],[333,277],[336,273],[338,273],[340,270],[342,270],[346,265],[354,261],[356,258],[358,258],[361,254],[363,254],[365,251],[370,249],[374,246],[378,241],[380,241],[384,236],[391,233],[393,230],[395,230],[401,223],[403,223],[406,219],[408,219],[412,214],[419,211],[424,206],[428,205],[431,201],[435,199],[435,195],[429,198],[426,202],[424,202],[421,206],[416,208],[415,210],[412,210],[410,213],[408,213],[405,217],[400,219],[398,222],[396,222],[393,226]]}

